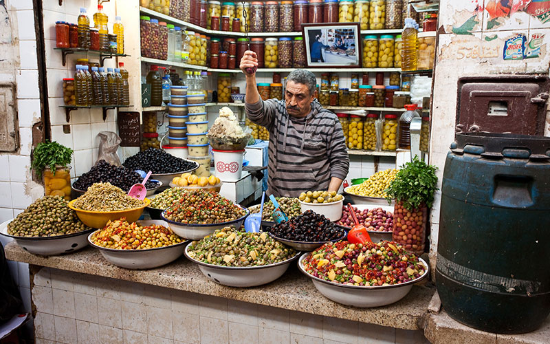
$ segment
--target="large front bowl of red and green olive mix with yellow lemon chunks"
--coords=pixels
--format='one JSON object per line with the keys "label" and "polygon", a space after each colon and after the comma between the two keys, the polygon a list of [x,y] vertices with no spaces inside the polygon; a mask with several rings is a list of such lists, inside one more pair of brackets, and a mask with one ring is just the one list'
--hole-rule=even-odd
{"label": "large front bowl of red and green olive mix with yellow lemon chunks", "polygon": [[358,308],[389,305],[428,276],[428,264],[395,242],[329,242],[302,255],[298,268],[327,299]]}

